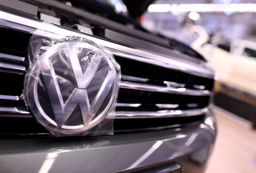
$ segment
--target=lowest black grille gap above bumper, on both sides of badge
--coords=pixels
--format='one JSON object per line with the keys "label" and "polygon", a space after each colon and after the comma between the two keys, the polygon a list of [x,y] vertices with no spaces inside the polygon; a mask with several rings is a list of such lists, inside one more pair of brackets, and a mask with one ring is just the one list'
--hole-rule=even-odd
{"label": "lowest black grille gap above bumper, on both sides of badge", "polygon": [[[166,128],[177,128],[189,124],[200,124],[204,115],[193,117],[175,118],[136,118],[115,119],[114,134],[124,132],[141,132],[142,130],[165,130]],[[182,123],[181,123],[182,122]],[[12,125],[10,125],[12,124]],[[34,118],[0,117],[0,135],[47,135],[53,136]]]}

